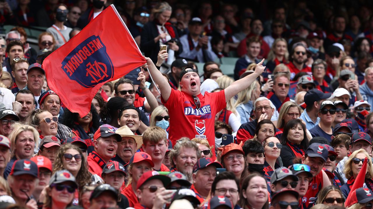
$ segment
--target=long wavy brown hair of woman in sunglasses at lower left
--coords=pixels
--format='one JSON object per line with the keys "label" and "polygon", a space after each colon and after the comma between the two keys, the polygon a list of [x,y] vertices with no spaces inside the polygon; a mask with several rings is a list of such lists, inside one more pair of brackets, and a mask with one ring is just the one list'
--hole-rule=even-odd
{"label": "long wavy brown hair of woman in sunglasses at lower left", "polygon": [[[65,152],[68,149],[75,149],[76,151],[79,152],[79,154],[83,156],[83,152],[81,151],[81,149],[79,149],[75,145],[73,144],[62,145],[60,149],[58,150],[56,160],[54,161],[53,173],[59,170],[66,169],[63,167],[62,157],[63,157],[63,154],[65,154]],[[91,183],[91,173],[88,171],[87,159],[82,157],[81,162],[82,163],[80,165],[78,175],[75,177],[76,183],[78,184],[79,188],[83,187],[85,184]]]}

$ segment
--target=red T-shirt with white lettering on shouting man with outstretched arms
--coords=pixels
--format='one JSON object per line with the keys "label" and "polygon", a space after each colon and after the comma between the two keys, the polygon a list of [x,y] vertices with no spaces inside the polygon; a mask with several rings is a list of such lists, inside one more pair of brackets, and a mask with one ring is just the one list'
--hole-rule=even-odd
{"label": "red T-shirt with white lettering on shouting man with outstretched arms", "polygon": [[[200,109],[196,109],[191,95],[182,91],[171,89],[167,102],[162,103],[170,114],[169,139],[175,145],[183,136],[189,138],[203,138],[210,145],[215,144],[214,122],[215,115],[226,107],[225,91],[197,95],[200,100]],[[215,149],[212,149],[215,156]]]}

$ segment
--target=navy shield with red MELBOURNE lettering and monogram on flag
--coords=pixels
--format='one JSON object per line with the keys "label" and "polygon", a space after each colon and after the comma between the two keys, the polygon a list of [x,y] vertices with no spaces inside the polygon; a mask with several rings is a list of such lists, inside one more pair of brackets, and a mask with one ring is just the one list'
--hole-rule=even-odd
{"label": "navy shield with red MELBOURNE lettering and monogram on flag", "polygon": [[62,70],[71,80],[85,88],[104,83],[114,75],[112,60],[100,36],[90,36],[81,42],[62,61]]}

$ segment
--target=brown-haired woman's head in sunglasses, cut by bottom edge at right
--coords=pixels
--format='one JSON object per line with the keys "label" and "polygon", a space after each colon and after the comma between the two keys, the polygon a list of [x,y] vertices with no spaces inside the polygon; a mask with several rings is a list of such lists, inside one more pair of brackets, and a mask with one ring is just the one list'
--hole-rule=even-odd
{"label": "brown-haired woman's head in sunglasses, cut by bottom edge at right", "polygon": [[344,206],[345,199],[342,197],[342,191],[339,187],[330,185],[324,187],[317,197],[316,204],[324,204],[327,206]]}

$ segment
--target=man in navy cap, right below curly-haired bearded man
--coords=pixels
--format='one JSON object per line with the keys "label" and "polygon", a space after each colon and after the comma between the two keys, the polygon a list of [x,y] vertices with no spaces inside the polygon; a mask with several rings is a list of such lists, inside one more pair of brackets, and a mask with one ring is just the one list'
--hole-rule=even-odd
{"label": "man in navy cap, right below curly-haired bearded man", "polygon": [[223,168],[223,166],[211,158],[200,158],[193,167],[193,184],[190,189],[195,192],[200,202],[210,194],[211,184],[216,177],[216,168]]}

